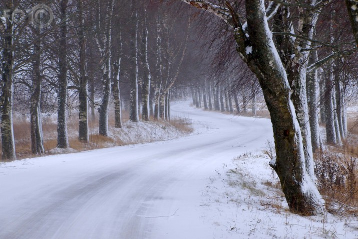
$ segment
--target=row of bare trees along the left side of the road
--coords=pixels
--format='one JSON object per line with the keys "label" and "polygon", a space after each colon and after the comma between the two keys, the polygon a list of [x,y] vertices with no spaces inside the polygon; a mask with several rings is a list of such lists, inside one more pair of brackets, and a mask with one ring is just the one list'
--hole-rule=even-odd
{"label": "row of bare trees along the left side of the road", "polygon": [[[51,9],[53,21],[41,5]],[[175,82],[191,31],[187,15],[175,17],[176,10],[145,0],[9,0],[0,9],[4,161],[16,159],[13,111],[30,115],[36,155],[44,154],[43,113],[57,112],[58,148],[70,146],[69,109],[78,111],[78,140],[85,143],[96,109],[103,136],[112,108],[116,128],[122,127],[122,106],[133,122],[140,112],[144,121],[170,118],[171,91],[183,91]],[[11,16],[30,9],[26,18]]]}

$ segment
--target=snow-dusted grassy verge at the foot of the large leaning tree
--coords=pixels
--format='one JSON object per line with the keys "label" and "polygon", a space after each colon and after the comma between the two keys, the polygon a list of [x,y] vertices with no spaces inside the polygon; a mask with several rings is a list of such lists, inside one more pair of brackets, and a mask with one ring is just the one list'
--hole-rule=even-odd
{"label": "snow-dusted grassy verge at the foot of the large leaning tree", "polygon": [[290,213],[269,160],[240,155],[210,177],[204,218],[221,231],[217,238],[358,238],[356,218]]}

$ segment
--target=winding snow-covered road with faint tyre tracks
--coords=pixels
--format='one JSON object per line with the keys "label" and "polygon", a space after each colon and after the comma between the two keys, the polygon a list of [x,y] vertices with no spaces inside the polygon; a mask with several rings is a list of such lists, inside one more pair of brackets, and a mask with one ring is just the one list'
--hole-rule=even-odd
{"label": "winding snow-covered road with faint tyre tracks", "polygon": [[213,238],[202,192],[235,156],[272,138],[268,119],[188,106],[189,136],[0,164],[0,238]]}

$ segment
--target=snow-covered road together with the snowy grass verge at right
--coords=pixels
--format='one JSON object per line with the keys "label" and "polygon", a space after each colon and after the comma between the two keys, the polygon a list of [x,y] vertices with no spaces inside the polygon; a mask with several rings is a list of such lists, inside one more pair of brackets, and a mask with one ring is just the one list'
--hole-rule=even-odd
{"label": "snow-covered road together with the snowy grass verge at right", "polygon": [[172,114],[194,133],[0,164],[0,238],[358,237],[355,220],[287,211],[261,157],[268,119]]}

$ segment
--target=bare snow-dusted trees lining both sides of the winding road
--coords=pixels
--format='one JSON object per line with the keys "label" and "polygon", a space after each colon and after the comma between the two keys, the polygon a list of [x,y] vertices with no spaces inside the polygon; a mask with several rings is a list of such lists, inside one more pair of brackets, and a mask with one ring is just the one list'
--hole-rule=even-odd
{"label": "bare snow-dusted trees lining both sides of the winding road", "polygon": [[324,210],[313,152],[322,147],[319,121],[327,143],[347,136],[355,1],[6,0],[0,9],[38,4],[51,7],[49,26],[0,19],[3,160],[16,159],[14,112],[30,115],[39,155],[42,113],[57,113],[57,147],[68,148],[69,109],[78,111],[78,140],[88,142],[96,109],[98,132],[108,136],[110,109],[121,128],[123,107],[133,122],[169,120],[170,99],[187,93],[197,107],[253,115],[263,98],[277,155],[270,165],[290,209]]}

